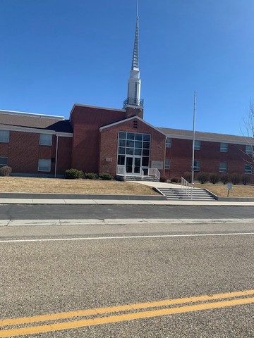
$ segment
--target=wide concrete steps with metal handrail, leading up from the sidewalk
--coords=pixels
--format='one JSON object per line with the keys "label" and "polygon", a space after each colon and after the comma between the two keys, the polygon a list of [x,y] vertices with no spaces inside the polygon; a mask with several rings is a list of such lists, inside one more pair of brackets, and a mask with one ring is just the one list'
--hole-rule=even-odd
{"label": "wide concrete steps with metal handrail, leading up from the sidewalk", "polygon": [[212,201],[214,197],[207,192],[207,190],[194,188],[192,199],[186,192],[183,192],[181,188],[156,188],[164,196],[167,196],[167,200],[181,200],[181,201]]}

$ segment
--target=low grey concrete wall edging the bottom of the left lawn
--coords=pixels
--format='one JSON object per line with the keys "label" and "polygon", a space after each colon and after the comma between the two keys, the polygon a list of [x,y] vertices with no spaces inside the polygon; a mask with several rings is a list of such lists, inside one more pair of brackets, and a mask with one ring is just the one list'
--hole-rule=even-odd
{"label": "low grey concrete wall edging the bottom of the left lawn", "polygon": [[24,192],[1,192],[0,199],[110,199],[127,201],[167,201],[166,196],[156,195],[36,194]]}

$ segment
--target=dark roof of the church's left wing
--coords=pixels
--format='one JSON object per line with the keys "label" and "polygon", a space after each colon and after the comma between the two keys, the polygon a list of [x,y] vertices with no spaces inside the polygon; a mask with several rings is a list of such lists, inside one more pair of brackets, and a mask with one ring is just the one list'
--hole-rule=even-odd
{"label": "dark roof of the church's left wing", "polygon": [[25,115],[25,113],[0,111],[0,124],[18,127],[55,130],[56,132],[73,132],[70,120],[53,116]]}

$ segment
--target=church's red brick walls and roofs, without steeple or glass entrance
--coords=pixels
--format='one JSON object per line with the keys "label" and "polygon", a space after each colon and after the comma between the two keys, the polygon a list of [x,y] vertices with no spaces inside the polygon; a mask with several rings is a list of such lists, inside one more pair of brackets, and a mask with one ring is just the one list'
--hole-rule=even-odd
{"label": "church's red brick walls and roofs, without steeple or glass entrance", "polygon": [[[119,132],[150,135],[149,168],[158,165],[161,175],[181,177],[191,171],[191,133],[152,127],[143,120],[142,108],[74,105],[70,120],[11,114],[0,112],[0,132],[9,131],[8,142],[0,141],[0,159],[6,161],[7,158],[13,174],[59,176],[64,175],[66,169],[75,168],[84,173],[106,172],[114,176]],[[44,133],[52,134],[52,145],[40,145],[40,134]],[[167,137],[171,139],[169,147]],[[248,142],[245,137],[210,133],[200,133],[200,137],[200,150],[195,150],[198,171],[219,173],[220,164],[224,163],[226,173],[246,173]],[[221,142],[228,145],[227,151],[221,151]],[[50,171],[38,170],[40,159],[51,163]]]}

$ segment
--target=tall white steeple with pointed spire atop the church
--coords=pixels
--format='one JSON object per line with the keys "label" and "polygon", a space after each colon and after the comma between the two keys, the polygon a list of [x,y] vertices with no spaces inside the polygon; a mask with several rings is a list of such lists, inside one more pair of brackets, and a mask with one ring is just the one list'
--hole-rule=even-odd
{"label": "tall white steeple with pointed spire atop the church", "polygon": [[140,70],[138,67],[138,0],[137,0],[137,20],[135,27],[135,40],[133,49],[133,61],[131,65],[130,78],[128,79],[128,96],[123,102],[123,108],[127,106],[143,107],[143,100],[140,100]]}

